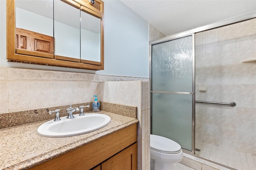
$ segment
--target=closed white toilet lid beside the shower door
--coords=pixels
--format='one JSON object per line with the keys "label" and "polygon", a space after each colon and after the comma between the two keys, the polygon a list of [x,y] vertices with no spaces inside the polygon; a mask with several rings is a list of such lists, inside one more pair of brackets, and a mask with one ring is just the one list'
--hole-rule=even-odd
{"label": "closed white toilet lid beside the shower door", "polygon": [[181,146],[171,139],[150,134],[150,149],[157,152],[176,154],[181,152]]}

